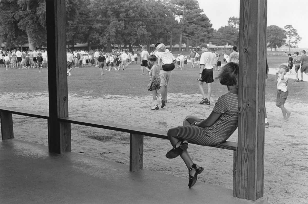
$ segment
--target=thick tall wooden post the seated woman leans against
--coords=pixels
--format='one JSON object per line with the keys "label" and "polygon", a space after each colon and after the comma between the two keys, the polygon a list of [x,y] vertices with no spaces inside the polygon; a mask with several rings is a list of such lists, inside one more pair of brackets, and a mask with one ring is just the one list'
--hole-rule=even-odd
{"label": "thick tall wooden post the seated woman leans against", "polygon": [[267,0],[240,1],[236,197],[263,197]]}

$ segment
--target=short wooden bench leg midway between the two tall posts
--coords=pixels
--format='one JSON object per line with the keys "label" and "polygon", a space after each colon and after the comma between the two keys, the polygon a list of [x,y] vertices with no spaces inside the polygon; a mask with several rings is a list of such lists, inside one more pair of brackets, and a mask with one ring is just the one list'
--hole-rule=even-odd
{"label": "short wooden bench leg midway between the two tall posts", "polygon": [[129,138],[129,171],[143,168],[143,135],[130,133]]}

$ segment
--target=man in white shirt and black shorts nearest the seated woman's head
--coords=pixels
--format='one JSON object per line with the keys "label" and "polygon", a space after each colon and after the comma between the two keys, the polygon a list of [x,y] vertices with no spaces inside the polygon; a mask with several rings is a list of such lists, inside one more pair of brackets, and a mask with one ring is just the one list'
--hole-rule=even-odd
{"label": "man in white shirt and black shorts nearest the seated woman's head", "polygon": [[[214,64],[214,55],[209,51],[206,43],[201,43],[200,49],[203,52],[200,57],[200,73],[199,73],[199,88],[202,94],[202,100],[199,104],[207,104],[210,105],[210,98],[212,94],[211,83],[214,81],[213,79],[213,64]],[[203,83],[206,82],[208,84],[208,94],[205,96],[205,92],[203,89]]]}

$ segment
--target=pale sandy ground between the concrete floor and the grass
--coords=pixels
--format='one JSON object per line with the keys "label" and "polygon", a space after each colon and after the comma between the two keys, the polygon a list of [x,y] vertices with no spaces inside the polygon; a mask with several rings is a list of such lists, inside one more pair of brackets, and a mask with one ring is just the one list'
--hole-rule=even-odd
{"label": "pale sandy ground between the concrete floor and the grass", "polygon": [[[200,98],[199,94],[171,93],[165,108],[151,111],[150,95],[93,98],[70,94],[69,112],[89,120],[168,130],[181,125],[187,115],[208,116],[217,98],[211,99],[211,106],[199,105]],[[7,107],[48,112],[48,93],[6,93],[0,94],[0,101]],[[286,108],[292,112],[288,122],[279,121],[282,113],[274,100],[265,105],[270,127],[265,129],[264,194],[269,203],[308,203],[308,104],[288,98]],[[48,145],[46,120],[14,115],[13,122],[15,138]],[[74,124],[71,128],[73,152],[129,165],[128,133]],[[229,141],[237,141],[237,131]],[[145,169],[185,177],[188,182],[188,170],[180,157],[170,160],[164,156],[171,149],[169,141],[145,137],[144,143]],[[232,151],[190,145],[189,152],[205,168],[199,181],[232,189]]]}

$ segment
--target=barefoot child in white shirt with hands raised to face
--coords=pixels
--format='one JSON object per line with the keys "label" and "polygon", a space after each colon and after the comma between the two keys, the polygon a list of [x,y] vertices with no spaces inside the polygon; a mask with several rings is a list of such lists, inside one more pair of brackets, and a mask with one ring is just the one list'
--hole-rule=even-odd
{"label": "barefoot child in white shirt with hands raised to face", "polygon": [[[275,80],[277,80],[277,88],[278,88],[276,106],[281,108],[282,115],[283,115],[282,121],[287,121],[291,115],[291,112],[285,108],[285,102],[289,94],[287,90],[289,78],[288,76],[286,76],[286,73],[288,71],[289,71],[289,67],[287,65],[282,64],[279,66],[279,70],[275,75]],[[278,77],[279,74],[280,76]]]}

